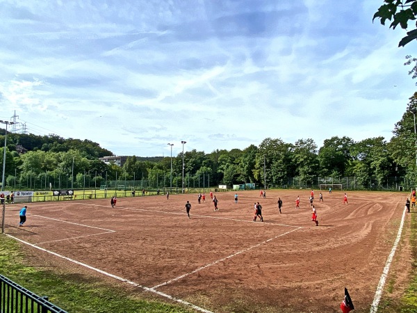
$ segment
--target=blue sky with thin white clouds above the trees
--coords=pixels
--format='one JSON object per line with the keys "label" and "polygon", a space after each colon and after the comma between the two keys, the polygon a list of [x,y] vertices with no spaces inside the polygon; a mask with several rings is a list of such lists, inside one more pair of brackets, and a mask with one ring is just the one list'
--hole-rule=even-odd
{"label": "blue sky with thin white clouds above the trees", "polygon": [[0,0],[0,120],[139,157],[389,141],[417,45],[373,22],[382,3]]}

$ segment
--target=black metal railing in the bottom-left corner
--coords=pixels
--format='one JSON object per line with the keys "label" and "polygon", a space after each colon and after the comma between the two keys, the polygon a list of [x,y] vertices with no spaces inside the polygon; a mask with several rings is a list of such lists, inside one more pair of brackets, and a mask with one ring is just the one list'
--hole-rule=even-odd
{"label": "black metal railing in the bottom-left corner", "polygon": [[50,303],[47,297],[37,296],[3,275],[0,275],[0,312],[67,313],[60,307]]}

